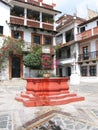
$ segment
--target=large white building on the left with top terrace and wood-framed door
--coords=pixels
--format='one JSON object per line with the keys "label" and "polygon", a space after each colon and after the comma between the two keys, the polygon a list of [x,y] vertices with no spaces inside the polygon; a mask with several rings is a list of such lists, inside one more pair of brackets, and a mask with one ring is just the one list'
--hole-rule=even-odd
{"label": "large white building on the left with top terrace and wood-framed door", "polygon": [[[1,80],[37,75],[38,70],[32,70],[29,74],[29,69],[23,65],[23,56],[33,43],[45,45],[55,43],[54,19],[61,12],[55,10],[54,6],[54,3],[49,5],[43,0],[13,0],[9,3],[0,1],[0,46],[6,36],[22,38],[25,41],[22,55],[10,54],[6,59],[6,67],[0,72]],[[50,48],[45,53],[50,53],[49,50]]]}

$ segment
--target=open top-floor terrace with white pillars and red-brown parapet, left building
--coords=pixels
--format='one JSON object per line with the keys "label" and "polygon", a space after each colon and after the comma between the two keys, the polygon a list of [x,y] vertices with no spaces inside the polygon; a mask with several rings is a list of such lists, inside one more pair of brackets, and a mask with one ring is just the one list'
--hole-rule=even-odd
{"label": "open top-floor terrace with white pillars and red-brown parapet, left building", "polygon": [[54,17],[46,13],[27,10],[24,15],[24,9],[15,7],[10,15],[10,24],[43,28],[45,30],[55,30]]}

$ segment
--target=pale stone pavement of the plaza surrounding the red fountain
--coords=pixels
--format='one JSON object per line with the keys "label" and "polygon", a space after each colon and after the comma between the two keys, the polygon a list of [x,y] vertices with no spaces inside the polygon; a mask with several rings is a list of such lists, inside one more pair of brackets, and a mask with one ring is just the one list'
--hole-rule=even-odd
{"label": "pale stone pavement of the plaza surrounding the red fountain", "polygon": [[98,130],[97,84],[70,85],[85,101],[59,106],[24,107],[15,100],[21,91],[0,85],[0,130]]}

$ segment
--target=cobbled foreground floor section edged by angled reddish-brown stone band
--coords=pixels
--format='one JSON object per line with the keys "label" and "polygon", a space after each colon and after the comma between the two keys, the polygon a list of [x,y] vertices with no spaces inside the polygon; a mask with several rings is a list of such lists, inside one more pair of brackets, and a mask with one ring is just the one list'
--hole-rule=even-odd
{"label": "cobbled foreground floor section edged by angled reddish-brown stone band", "polygon": [[25,123],[21,128],[25,130],[98,130],[98,126],[93,124],[89,115],[83,110],[80,111],[77,118],[70,113],[52,110]]}

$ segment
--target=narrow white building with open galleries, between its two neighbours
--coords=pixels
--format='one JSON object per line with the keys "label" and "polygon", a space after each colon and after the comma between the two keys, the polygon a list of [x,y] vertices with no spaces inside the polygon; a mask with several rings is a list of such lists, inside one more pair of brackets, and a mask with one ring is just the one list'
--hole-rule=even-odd
{"label": "narrow white building with open galleries, between its two neighbours", "polygon": [[83,21],[83,19],[71,15],[63,15],[57,20],[59,33],[56,35],[56,44],[60,47],[57,51],[57,74],[61,77],[73,77],[73,74],[79,74],[77,64],[79,49],[76,34],[78,24]]}

